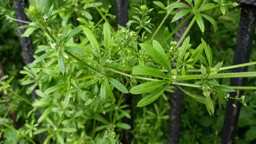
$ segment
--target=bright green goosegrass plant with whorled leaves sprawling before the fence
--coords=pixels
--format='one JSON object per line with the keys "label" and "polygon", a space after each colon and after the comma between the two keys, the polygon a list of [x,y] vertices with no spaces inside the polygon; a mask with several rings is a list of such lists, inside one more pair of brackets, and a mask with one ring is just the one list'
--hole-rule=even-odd
{"label": "bright green goosegrass plant with whorled leaves sprawling before the fence", "polygon": [[[207,33],[203,19],[209,21],[216,31],[216,22],[204,12],[220,7],[221,12],[225,14],[228,11],[227,5],[233,5],[233,3],[214,1],[213,4],[202,0],[187,1],[187,3],[177,1],[165,7],[162,3],[155,2],[156,5],[164,8],[166,16],[148,41],[145,40],[145,34],[152,33],[150,29],[154,28],[149,17],[153,9],[143,4],[134,7],[140,17],[134,15],[134,20],[130,20],[127,27],[119,26],[117,31],[114,31],[107,19],[114,16],[109,14],[108,10],[100,9],[98,7],[100,4],[93,1],[84,1],[83,4],[85,10],[90,5],[89,7],[99,12],[101,15],[99,22],[91,22],[91,17],[87,14],[85,19],[82,17],[76,19],[80,22],[80,26],[74,27],[69,24],[62,30],[51,28],[53,21],[57,18],[56,12],[52,14],[53,5],[47,13],[44,7],[29,6],[26,14],[32,22],[20,28],[42,30],[49,39],[49,44],[39,45],[35,51],[36,60],[20,71],[25,75],[21,84],[34,83],[26,89],[26,94],[30,94],[38,86],[36,94],[39,98],[31,101],[29,98],[22,97],[10,87],[9,83],[13,77],[1,78],[0,90],[7,95],[2,102],[19,99],[20,102],[26,103],[27,109],[25,110],[26,124],[19,130],[11,126],[9,120],[5,118],[7,114],[0,119],[0,125],[7,130],[5,133],[15,133],[17,141],[31,143],[38,142],[35,139],[40,133],[47,133],[42,143],[49,141],[53,143],[118,143],[121,137],[124,137],[121,130],[131,129],[130,125],[121,121],[122,117],[131,118],[130,110],[123,110],[127,105],[122,105],[123,95],[131,93],[142,95],[142,99],[136,104],[137,107],[146,107],[154,103],[156,111],[155,114],[143,108],[143,115],[148,116],[134,121],[135,128],[130,131],[135,135],[133,143],[157,143],[157,137],[146,138],[140,135],[142,133],[156,135],[161,122],[169,119],[169,115],[165,114],[169,107],[166,106],[163,109],[161,105],[158,106],[155,103],[155,100],[160,96],[167,100],[164,92],[172,92],[173,85],[177,85],[191,98],[205,104],[210,116],[214,115],[216,103],[221,106],[223,99],[236,99],[246,106],[244,96],[231,98],[228,93],[255,90],[256,87],[221,85],[218,79],[255,77],[254,71],[244,73],[221,73],[221,71],[255,65],[256,62],[222,67],[221,61],[213,66],[210,45],[201,38],[202,43],[193,49],[189,44],[190,37],[186,37],[195,21],[202,33]],[[183,7],[184,10],[175,14],[170,22],[175,22],[184,15],[188,15],[187,18],[161,43],[155,41],[154,37],[167,17],[179,7]],[[87,13],[76,12],[78,15]],[[167,43],[166,41],[189,19],[192,19],[190,25],[179,42]],[[136,28],[130,29],[131,25],[135,25]],[[102,31],[101,35],[95,34],[98,31]],[[74,41],[75,38],[79,41]],[[7,81],[3,81],[4,79]],[[201,95],[187,91],[181,86],[200,90]],[[35,117],[36,110],[40,110],[42,114],[38,119]],[[148,124],[147,119],[156,119],[155,125]],[[40,127],[39,123],[43,123],[43,126]]]}

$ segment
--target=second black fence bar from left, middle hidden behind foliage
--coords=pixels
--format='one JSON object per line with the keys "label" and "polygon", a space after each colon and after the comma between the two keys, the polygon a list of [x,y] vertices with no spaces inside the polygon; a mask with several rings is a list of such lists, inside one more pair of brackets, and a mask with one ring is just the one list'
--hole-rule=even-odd
{"label": "second black fence bar from left, middle hidden behind foliage", "polygon": [[[125,27],[128,22],[128,0],[115,0],[115,15],[116,15],[116,30],[118,29],[118,25]],[[124,79],[124,83],[126,83]],[[132,94],[124,94],[124,105],[128,105],[129,107],[125,108],[126,110],[131,110],[131,118],[123,117],[123,123],[129,124],[131,129],[133,129],[133,114],[132,114]],[[123,131],[123,139],[122,143],[130,144],[133,139],[133,135],[128,131]]]}

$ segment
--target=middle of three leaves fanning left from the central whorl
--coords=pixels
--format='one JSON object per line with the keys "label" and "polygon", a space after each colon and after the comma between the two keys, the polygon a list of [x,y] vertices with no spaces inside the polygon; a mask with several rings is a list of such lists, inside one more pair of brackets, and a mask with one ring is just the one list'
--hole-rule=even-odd
{"label": "middle of three leaves fanning left from the central whorl", "polygon": [[153,81],[153,82],[148,82],[148,83],[143,83],[140,85],[136,85],[132,87],[130,90],[130,93],[132,94],[141,94],[141,93],[146,93],[149,91],[153,91],[157,89],[160,86],[163,86],[164,84],[168,83],[170,81],[167,80],[162,80],[162,81]]}

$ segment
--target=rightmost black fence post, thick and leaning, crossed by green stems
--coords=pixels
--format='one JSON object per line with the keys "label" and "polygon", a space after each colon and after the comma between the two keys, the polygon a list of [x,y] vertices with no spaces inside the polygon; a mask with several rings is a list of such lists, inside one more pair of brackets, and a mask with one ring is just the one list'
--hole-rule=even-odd
{"label": "rightmost black fence post, thick and leaning, crossed by green stems", "polygon": [[[252,49],[252,42],[254,36],[254,30],[256,25],[256,1],[255,0],[241,0],[241,17],[238,27],[237,43],[235,50],[235,57],[233,65],[249,62],[250,53]],[[232,73],[239,73],[247,71],[247,67],[235,68]],[[230,86],[244,86],[246,78],[231,78]],[[235,97],[236,92],[229,93],[230,97]],[[239,91],[239,97],[243,94],[243,91]],[[225,114],[225,121],[223,125],[223,132],[221,143],[235,143],[235,134],[237,129],[237,122],[241,103],[237,101],[236,107],[233,107],[235,103],[234,99],[229,99],[227,102],[227,109]]]}

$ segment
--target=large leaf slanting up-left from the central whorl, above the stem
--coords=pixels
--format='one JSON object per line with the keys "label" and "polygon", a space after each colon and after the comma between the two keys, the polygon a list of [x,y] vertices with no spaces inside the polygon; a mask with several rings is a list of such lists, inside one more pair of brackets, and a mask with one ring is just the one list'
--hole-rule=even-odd
{"label": "large leaf slanting up-left from the central whorl, above the stem", "polygon": [[172,71],[170,62],[165,59],[165,57],[162,57],[162,54],[160,54],[153,46],[142,43],[140,44],[141,48],[146,51],[147,54],[149,54],[156,62],[160,63],[165,69],[167,69],[169,72]]}

